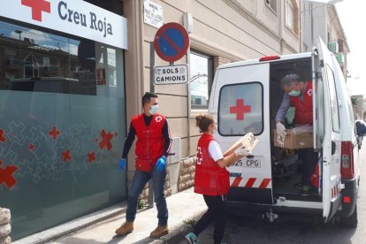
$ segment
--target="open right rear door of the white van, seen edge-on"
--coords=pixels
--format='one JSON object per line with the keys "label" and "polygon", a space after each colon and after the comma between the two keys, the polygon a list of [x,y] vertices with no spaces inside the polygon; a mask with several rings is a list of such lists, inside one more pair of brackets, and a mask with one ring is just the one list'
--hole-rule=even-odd
{"label": "open right rear door of the white van, seen edge-on", "polygon": [[321,152],[320,169],[323,217],[329,221],[340,204],[339,100],[335,88],[332,57],[324,42],[313,50],[314,149]]}

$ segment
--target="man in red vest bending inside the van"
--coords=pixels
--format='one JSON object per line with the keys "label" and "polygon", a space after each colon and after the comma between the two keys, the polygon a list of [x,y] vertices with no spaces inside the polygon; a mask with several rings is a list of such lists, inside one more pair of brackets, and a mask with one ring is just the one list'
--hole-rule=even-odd
{"label": "man in red vest bending inside the van", "polygon": [[[276,114],[277,141],[282,144],[286,136],[286,112],[292,106],[295,109],[294,126],[313,125],[313,92],[311,80],[305,81],[296,73],[290,73],[281,79],[281,88],[285,91],[282,103]],[[301,182],[294,185],[301,195],[311,194],[311,174],[315,171],[317,153],[314,149],[299,149],[302,161]]]}

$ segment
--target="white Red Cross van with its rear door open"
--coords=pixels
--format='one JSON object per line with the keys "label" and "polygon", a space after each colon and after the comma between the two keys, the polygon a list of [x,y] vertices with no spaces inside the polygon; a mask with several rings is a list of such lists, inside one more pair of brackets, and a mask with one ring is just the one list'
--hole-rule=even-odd
{"label": "white Red Cross van with its rear door open", "polygon": [[[293,187],[301,178],[298,150],[274,147],[274,120],[283,97],[279,80],[290,72],[313,84],[313,148],[319,156],[319,187],[310,195],[301,195]],[[229,210],[259,213],[270,221],[289,216],[284,213],[296,218],[311,213],[324,222],[340,217],[347,226],[357,225],[360,170],[354,114],[343,73],[323,41],[309,53],[220,65],[209,112],[216,118],[214,137],[223,150],[248,132],[259,140],[254,157],[228,168]]]}

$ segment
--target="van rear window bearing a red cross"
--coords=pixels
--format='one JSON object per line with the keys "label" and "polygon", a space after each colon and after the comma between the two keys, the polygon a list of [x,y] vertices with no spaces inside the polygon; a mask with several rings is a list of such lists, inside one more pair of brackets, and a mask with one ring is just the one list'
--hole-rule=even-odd
{"label": "van rear window bearing a red cross", "polygon": [[263,86],[259,82],[226,85],[218,100],[218,133],[263,132]]}

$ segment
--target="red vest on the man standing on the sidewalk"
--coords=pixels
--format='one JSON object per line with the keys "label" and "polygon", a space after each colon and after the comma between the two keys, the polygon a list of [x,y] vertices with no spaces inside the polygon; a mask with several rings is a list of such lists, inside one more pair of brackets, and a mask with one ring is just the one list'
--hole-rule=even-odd
{"label": "red vest on the man standing on the sidewalk", "polygon": [[145,125],[143,114],[132,118],[133,128],[136,131],[136,169],[150,172],[157,159],[164,155],[163,126],[165,117],[155,114],[149,126]]}

